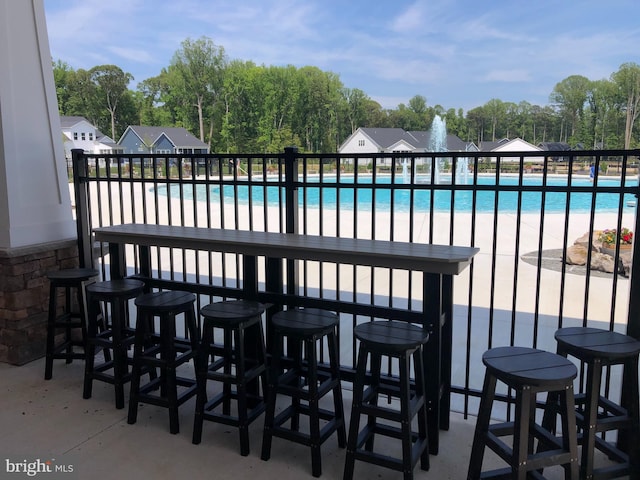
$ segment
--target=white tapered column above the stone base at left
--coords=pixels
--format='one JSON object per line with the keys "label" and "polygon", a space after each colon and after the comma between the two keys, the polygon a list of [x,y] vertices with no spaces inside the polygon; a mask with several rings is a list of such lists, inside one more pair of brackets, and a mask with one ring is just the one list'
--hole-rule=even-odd
{"label": "white tapered column above the stone base at left", "polygon": [[0,0],[0,249],[76,236],[42,0]]}

